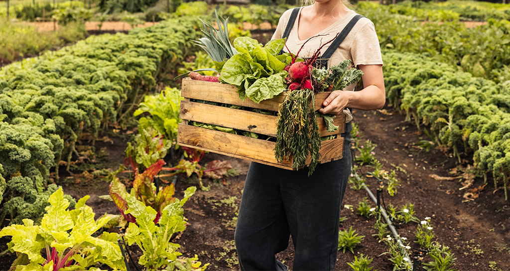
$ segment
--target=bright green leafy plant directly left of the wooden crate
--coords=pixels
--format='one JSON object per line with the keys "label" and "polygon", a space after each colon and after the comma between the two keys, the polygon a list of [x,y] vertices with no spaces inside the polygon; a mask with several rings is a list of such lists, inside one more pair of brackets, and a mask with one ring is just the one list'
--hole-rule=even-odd
{"label": "bright green leafy plant directly left of the wooden crate", "polygon": [[138,109],[133,114],[135,117],[142,113],[150,114],[138,120],[139,129],[150,126],[163,134],[165,139],[173,140],[177,137],[177,124],[181,123],[179,118],[181,100],[183,100],[181,91],[168,87],[159,95],[145,96],[144,101],[138,105]]}

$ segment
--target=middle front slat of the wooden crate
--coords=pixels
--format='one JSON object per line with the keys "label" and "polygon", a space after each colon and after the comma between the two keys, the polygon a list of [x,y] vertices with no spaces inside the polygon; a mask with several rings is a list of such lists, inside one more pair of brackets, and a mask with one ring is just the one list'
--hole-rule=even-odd
{"label": "middle front slat of the wooden crate", "polygon": [[181,101],[179,118],[276,137],[278,117],[205,103]]}

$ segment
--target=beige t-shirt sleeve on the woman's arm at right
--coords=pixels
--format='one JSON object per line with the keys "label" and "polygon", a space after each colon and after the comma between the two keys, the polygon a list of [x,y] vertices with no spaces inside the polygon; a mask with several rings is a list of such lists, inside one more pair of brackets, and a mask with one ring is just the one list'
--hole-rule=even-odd
{"label": "beige t-shirt sleeve on the woman's arm at right", "polygon": [[356,33],[349,50],[354,67],[358,67],[358,65],[382,65],[379,39],[372,21],[365,22]]}

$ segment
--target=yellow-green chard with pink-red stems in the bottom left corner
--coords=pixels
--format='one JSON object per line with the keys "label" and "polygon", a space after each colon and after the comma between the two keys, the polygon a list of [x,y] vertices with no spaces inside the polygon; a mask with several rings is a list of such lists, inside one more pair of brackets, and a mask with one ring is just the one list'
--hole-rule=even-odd
{"label": "yellow-green chard with pink-red stems in the bottom left corner", "polygon": [[88,198],[80,199],[76,208],[69,211],[69,201],[64,198],[62,188],[59,188],[49,196],[51,205],[46,207],[47,212],[40,225],[35,225],[30,219],[23,219],[23,225],[3,228],[0,236],[12,236],[8,243],[9,250],[19,253],[19,265],[16,268],[60,270],[69,266],[66,269],[75,270],[100,262],[113,269],[123,269],[123,258],[116,243],[118,234],[92,236],[109,218],[94,221],[92,208],[85,205]]}

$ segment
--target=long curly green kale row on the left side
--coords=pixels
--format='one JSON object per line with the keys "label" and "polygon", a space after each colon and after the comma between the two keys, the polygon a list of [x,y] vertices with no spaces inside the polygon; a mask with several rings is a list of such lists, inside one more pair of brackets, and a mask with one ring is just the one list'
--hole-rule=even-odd
{"label": "long curly green kale row on the left side", "polygon": [[165,82],[175,64],[192,52],[197,23],[180,18],[129,35],[92,36],[4,67],[0,194],[9,193],[2,215],[11,214],[12,223],[40,215],[47,201],[36,196],[50,169],[58,179],[56,163],[67,160],[69,169],[80,139],[89,138],[93,145],[101,127],[122,123],[146,93],[157,89],[156,82]]}

